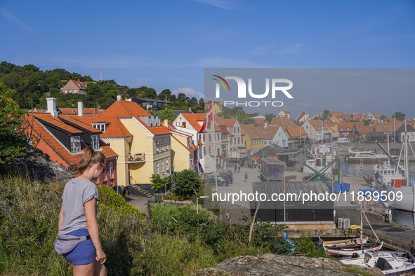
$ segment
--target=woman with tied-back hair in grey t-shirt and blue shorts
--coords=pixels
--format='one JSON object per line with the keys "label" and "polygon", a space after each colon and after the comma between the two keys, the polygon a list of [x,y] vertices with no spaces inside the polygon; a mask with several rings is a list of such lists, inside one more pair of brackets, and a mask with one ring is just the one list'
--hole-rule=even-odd
{"label": "woman with tied-back hair in grey t-shirt and blue shorts", "polygon": [[75,276],[107,275],[107,268],[103,265],[107,255],[101,247],[96,221],[98,190],[91,182],[105,171],[105,167],[103,153],[93,151],[91,146],[88,146],[72,170],[72,174],[77,174],[77,177],[68,181],[63,191],[59,234],[87,238],[69,253],[62,254],[72,263]]}

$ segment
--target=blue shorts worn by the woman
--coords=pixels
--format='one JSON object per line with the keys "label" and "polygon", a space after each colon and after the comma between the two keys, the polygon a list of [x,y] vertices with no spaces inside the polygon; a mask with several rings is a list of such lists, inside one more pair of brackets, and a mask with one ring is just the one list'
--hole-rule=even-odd
{"label": "blue shorts worn by the woman", "polygon": [[[81,237],[89,235],[89,232],[88,229],[77,229],[68,234]],[[92,240],[89,239],[84,242],[79,242],[74,250],[68,254],[62,254],[62,256],[66,258],[68,263],[72,263],[72,265],[87,265],[95,261],[96,251]]]}

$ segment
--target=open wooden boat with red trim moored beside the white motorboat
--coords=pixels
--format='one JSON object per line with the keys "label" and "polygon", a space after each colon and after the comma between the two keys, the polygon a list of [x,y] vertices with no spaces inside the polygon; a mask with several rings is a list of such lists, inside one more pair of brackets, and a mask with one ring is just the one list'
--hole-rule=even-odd
{"label": "open wooden boat with red trim moored beside the white motorboat", "polygon": [[383,242],[370,242],[364,244],[348,244],[324,247],[327,254],[334,257],[360,256],[367,251],[379,251],[383,247]]}

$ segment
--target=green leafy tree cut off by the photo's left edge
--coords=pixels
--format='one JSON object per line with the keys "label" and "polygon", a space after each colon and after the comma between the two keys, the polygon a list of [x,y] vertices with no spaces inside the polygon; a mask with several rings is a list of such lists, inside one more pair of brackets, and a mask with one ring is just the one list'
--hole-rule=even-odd
{"label": "green leafy tree cut off by the photo's left edge", "polygon": [[25,111],[11,97],[14,90],[0,83],[0,164],[25,156],[27,134],[23,131]]}

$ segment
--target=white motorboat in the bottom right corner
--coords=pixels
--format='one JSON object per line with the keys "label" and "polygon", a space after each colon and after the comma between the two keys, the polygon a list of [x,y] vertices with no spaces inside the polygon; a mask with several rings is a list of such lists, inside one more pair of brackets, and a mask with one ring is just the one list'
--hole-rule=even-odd
{"label": "white motorboat in the bottom right corner", "polygon": [[360,265],[364,268],[379,268],[384,275],[412,275],[415,263],[404,252],[367,251],[357,258],[341,259],[345,265]]}

